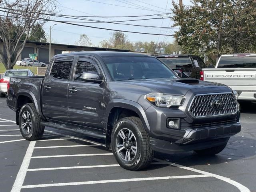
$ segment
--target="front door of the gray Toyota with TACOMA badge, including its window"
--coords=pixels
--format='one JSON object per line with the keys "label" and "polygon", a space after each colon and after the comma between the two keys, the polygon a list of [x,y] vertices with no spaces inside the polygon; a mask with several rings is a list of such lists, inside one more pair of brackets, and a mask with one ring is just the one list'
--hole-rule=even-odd
{"label": "front door of the gray Toyota with TACOMA badge, including its window", "polygon": [[105,83],[98,84],[80,80],[82,73],[88,71],[101,74],[96,61],[79,57],[72,81],[68,86],[68,121],[72,124],[103,129]]}

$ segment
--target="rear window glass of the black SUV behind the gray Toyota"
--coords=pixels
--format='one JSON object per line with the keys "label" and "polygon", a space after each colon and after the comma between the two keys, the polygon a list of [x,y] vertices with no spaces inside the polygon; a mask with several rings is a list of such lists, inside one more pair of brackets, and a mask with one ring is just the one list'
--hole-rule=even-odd
{"label": "rear window glass of the black SUV behind the gray Toyota", "polygon": [[170,68],[192,68],[189,57],[159,58]]}

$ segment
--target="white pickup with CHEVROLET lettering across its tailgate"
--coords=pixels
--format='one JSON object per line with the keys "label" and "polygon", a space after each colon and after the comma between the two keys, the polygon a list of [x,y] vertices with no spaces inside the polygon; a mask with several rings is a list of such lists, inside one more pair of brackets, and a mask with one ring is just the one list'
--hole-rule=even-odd
{"label": "white pickup with CHEVROLET lettering across its tailgate", "polygon": [[220,56],[215,68],[204,68],[201,80],[229,86],[238,92],[238,100],[256,101],[256,54]]}

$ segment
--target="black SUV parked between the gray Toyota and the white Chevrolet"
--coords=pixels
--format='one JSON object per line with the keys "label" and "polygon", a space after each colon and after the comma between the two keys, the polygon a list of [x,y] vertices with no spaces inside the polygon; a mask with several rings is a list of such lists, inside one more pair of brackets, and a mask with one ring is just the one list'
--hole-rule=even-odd
{"label": "black SUV parked between the gray Toyota and the white Chevrolet", "polygon": [[204,61],[196,55],[158,55],[156,58],[172,70],[180,70],[182,78],[200,79],[200,71],[207,67]]}

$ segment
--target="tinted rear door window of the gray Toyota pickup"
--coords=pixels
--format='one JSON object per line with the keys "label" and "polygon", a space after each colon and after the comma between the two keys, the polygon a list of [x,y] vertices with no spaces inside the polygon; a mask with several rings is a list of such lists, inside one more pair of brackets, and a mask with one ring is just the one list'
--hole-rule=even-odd
{"label": "tinted rear door window of the gray Toyota pickup", "polygon": [[56,79],[68,80],[72,61],[73,58],[57,58],[54,60],[50,76]]}

